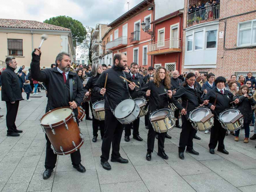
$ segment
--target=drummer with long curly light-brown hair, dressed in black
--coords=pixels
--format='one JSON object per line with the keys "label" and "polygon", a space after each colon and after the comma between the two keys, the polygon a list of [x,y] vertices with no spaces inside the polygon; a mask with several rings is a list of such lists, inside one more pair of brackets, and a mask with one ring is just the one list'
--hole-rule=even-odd
{"label": "drummer with long curly light-brown hair, dressed in black", "polygon": [[[149,87],[149,89],[148,89]],[[144,89],[145,88],[145,89]],[[148,89],[148,90],[147,90]],[[158,67],[153,81],[149,81],[149,85],[145,84],[143,90],[144,95],[149,98],[149,111],[153,112],[156,109],[169,108],[169,103],[174,103],[175,106],[180,106],[180,103],[172,98],[171,81],[168,76],[168,72],[164,67]],[[143,90],[139,92],[143,92]],[[159,95],[164,92],[168,92],[165,95]],[[157,155],[163,159],[168,159],[168,156],[164,151],[164,140],[166,132],[158,133],[158,152]],[[156,131],[153,128],[148,118],[148,149],[146,159],[151,160],[151,154],[154,150]]]}

